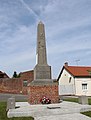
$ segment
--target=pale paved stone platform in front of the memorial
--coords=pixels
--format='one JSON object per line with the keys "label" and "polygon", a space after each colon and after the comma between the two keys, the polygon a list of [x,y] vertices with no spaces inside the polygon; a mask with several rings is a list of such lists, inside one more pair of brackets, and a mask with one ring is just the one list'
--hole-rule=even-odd
{"label": "pale paved stone platform in front of the memorial", "polygon": [[91,111],[91,105],[63,101],[50,105],[30,105],[27,102],[18,102],[16,106],[20,108],[10,109],[7,113],[8,117],[32,116],[35,120],[91,120],[80,114],[82,111]]}

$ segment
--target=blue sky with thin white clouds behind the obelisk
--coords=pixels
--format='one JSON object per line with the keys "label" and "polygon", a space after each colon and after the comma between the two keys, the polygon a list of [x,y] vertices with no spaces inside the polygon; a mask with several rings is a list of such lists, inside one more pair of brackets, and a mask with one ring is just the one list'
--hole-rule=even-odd
{"label": "blue sky with thin white clouds behind the obelisk", "polygon": [[0,0],[0,70],[32,70],[37,24],[45,24],[48,64],[91,66],[91,0]]}

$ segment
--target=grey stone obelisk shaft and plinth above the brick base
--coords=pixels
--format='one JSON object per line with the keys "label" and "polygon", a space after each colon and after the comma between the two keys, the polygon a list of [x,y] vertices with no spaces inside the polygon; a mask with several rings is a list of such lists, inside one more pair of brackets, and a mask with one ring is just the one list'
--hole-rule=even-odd
{"label": "grey stone obelisk shaft and plinth above the brick base", "polygon": [[34,80],[48,80],[51,79],[51,66],[47,64],[45,27],[40,21],[37,26],[37,64],[34,68]]}

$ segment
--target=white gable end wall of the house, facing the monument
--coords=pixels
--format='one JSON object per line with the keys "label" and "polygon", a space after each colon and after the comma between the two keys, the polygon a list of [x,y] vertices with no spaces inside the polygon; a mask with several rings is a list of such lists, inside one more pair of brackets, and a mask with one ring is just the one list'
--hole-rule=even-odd
{"label": "white gable end wall of the house, facing the monument", "polygon": [[75,94],[74,77],[64,69],[61,74],[61,77],[59,78],[59,95],[73,95],[73,94]]}

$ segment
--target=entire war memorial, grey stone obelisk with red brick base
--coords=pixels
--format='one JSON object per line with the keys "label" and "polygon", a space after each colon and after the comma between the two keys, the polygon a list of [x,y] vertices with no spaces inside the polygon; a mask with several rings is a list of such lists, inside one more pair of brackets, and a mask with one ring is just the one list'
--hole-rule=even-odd
{"label": "entire war memorial, grey stone obelisk with red brick base", "polygon": [[40,21],[37,26],[36,65],[34,80],[28,85],[28,101],[30,104],[40,104],[46,96],[51,103],[59,101],[58,83],[51,78],[51,66],[47,64],[45,27]]}

